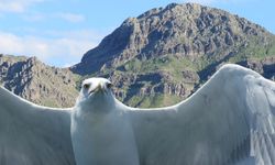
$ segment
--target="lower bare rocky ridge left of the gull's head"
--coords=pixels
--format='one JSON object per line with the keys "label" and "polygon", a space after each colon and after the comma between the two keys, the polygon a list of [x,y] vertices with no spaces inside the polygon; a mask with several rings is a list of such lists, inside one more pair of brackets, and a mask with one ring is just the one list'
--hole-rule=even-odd
{"label": "lower bare rocky ridge left of the gull's head", "polygon": [[50,67],[35,57],[0,55],[0,80],[14,94],[50,107],[72,107],[78,95],[77,76],[69,69]]}

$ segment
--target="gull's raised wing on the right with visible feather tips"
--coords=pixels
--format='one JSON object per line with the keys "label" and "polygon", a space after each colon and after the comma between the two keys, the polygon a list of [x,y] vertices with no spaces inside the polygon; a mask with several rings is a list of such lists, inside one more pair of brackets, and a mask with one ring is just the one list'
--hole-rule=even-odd
{"label": "gull's raised wing on the right with visible feather tips", "polygon": [[275,164],[275,84],[226,65],[186,101],[129,108],[142,165]]}

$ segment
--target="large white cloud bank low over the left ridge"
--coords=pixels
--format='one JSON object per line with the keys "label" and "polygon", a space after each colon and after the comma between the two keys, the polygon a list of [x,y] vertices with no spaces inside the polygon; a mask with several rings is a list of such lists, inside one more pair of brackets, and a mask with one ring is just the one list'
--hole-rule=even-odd
{"label": "large white cloud bank low over the left ridge", "polygon": [[80,62],[82,54],[98,44],[80,36],[78,38],[66,36],[43,38],[4,32],[0,32],[0,38],[1,54],[36,56],[42,62],[55,66],[67,66]]}

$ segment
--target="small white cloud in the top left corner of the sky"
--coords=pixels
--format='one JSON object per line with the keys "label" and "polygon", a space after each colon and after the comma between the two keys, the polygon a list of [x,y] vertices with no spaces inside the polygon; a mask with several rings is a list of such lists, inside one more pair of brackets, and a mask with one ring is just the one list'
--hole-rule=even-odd
{"label": "small white cloud in the top left corner of the sky", "polygon": [[24,12],[30,6],[43,0],[0,0],[0,12]]}

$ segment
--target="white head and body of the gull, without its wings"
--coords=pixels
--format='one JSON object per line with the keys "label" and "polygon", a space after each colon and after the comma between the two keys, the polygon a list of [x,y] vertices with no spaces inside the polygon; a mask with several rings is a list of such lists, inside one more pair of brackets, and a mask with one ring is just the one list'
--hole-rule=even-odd
{"label": "white head and body of the gull, without its wings", "polygon": [[[90,78],[72,114],[77,165],[139,165],[134,134],[125,111],[116,105],[109,80]],[[94,91],[94,92],[90,92]]]}

